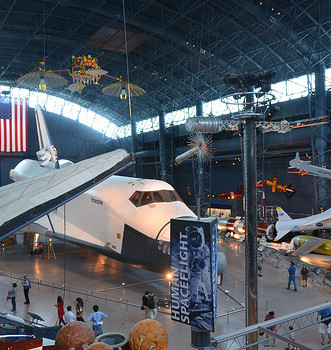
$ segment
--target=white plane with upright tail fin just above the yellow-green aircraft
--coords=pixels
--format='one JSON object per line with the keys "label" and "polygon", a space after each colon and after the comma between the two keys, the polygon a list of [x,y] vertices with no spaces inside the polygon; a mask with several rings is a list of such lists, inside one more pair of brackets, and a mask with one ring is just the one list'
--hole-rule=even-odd
{"label": "white plane with upright tail fin just above the yellow-green aircraft", "polygon": [[278,221],[274,227],[274,241],[290,239],[298,232],[331,228],[331,208],[323,213],[302,219],[292,219],[281,207],[277,207]]}

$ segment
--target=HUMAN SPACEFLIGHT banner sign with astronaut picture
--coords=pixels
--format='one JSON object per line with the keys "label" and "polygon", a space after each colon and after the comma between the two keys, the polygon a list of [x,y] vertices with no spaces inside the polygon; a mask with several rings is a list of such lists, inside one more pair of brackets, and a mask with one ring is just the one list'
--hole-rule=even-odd
{"label": "HUMAN SPACEFLIGHT banner sign with astronaut picture", "polygon": [[217,220],[172,219],[171,319],[214,331],[217,306]]}

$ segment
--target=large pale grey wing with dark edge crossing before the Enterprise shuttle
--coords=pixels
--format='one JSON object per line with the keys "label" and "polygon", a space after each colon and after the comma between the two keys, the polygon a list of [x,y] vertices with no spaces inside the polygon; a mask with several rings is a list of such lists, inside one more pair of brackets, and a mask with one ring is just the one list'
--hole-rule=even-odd
{"label": "large pale grey wing with dark edge crossing before the Enterprise shuttle", "polygon": [[0,239],[131,164],[127,151],[116,150],[1,187]]}

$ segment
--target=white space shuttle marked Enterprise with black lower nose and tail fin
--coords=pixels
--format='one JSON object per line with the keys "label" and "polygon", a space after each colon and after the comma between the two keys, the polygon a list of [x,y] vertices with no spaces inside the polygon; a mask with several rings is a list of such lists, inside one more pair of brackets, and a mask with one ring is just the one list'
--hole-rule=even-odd
{"label": "white space shuttle marked Enterprise with black lower nose and tail fin", "polygon": [[[35,114],[40,146],[38,161],[26,159],[20,162],[10,171],[10,177],[16,183],[5,187],[31,182],[40,176],[51,178],[54,174],[69,172],[79,164],[58,160],[40,106],[36,106]],[[128,154],[124,150],[115,152],[120,152],[121,168]],[[70,186],[73,186],[70,176],[66,181],[70,192]],[[187,217],[196,218],[196,215],[168,183],[112,175],[64,205],[54,206],[46,216],[38,217],[22,230],[93,249],[140,268],[168,273],[171,270],[170,220]],[[219,247],[218,273],[224,272],[225,268],[226,257]]]}

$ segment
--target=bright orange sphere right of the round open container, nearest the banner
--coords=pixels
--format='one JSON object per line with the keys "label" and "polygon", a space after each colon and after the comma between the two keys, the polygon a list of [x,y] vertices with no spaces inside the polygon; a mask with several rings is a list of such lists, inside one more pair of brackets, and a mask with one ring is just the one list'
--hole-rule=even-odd
{"label": "bright orange sphere right of the round open container, nearest the banner", "polygon": [[161,323],[146,319],[136,323],[129,335],[130,350],[166,350],[168,333]]}

